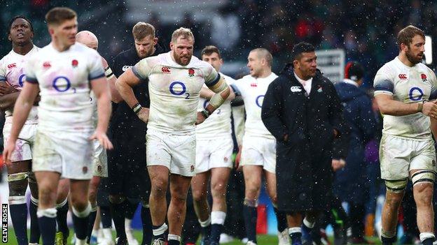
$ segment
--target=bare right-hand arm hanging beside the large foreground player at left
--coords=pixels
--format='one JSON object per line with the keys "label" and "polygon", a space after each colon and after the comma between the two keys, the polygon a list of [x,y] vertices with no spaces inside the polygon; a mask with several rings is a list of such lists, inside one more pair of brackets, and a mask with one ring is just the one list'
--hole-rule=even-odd
{"label": "bare right-hand arm hanging beside the large foreground player at left", "polygon": [[90,140],[99,140],[105,149],[112,149],[112,143],[106,136],[109,116],[111,115],[111,95],[106,77],[91,80],[91,88],[97,98],[97,128]]}

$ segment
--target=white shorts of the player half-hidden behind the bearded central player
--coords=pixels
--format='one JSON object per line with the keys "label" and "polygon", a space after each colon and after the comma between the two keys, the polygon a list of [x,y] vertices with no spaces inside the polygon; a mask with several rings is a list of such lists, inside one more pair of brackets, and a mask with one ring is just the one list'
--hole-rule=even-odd
{"label": "white shorts of the player half-hidden behind the bearded central player", "polygon": [[207,172],[211,168],[233,168],[234,142],[227,138],[197,139],[195,172]]}

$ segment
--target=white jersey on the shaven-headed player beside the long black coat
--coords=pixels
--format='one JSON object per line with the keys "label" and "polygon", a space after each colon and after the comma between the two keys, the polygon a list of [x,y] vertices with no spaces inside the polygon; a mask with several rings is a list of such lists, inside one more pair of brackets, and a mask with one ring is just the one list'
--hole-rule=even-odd
{"label": "white jersey on the shaven-headed player beside the long black coat", "polygon": [[265,128],[261,120],[261,107],[263,106],[265,92],[269,84],[273,82],[276,77],[277,75],[275,73],[271,73],[268,77],[264,78],[245,75],[235,82],[235,86],[237,86],[242,94],[244,109],[246,110],[244,135],[274,138],[267,128]]}

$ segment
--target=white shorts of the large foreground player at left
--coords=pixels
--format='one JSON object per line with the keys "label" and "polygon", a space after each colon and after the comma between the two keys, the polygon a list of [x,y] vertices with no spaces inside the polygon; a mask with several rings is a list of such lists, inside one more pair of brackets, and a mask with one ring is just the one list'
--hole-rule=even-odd
{"label": "white shorts of the large foreground player at left", "polygon": [[65,179],[91,179],[90,133],[36,131],[32,171],[59,172]]}

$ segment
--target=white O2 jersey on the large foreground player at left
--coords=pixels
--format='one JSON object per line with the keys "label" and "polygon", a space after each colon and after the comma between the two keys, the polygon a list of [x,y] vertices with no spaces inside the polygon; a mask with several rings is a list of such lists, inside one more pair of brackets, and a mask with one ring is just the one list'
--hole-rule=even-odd
{"label": "white O2 jersey on the large foreground player at left", "polygon": [[48,131],[91,131],[90,81],[104,77],[97,51],[81,43],[59,52],[52,43],[27,61],[27,82],[38,83],[39,128]]}

